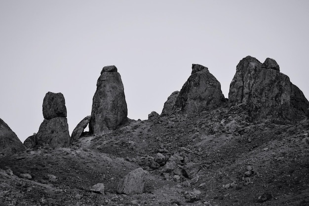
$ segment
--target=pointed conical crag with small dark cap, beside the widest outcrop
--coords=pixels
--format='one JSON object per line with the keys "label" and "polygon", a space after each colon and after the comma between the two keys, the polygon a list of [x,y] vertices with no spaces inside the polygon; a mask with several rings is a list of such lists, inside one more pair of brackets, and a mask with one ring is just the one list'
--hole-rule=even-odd
{"label": "pointed conical crag with small dark cap, beside the widest outcrop", "polygon": [[191,76],[180,90],[174,109],[183,114],[197,114],[224,102],[220,82],[209,73],[207,67],[193,64]]}

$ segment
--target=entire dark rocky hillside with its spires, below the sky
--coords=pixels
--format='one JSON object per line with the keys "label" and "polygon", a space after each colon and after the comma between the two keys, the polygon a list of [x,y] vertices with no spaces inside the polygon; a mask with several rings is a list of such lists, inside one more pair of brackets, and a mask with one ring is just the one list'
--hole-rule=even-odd
{"label": "entire dark rocky hillside with its spires, below the sky", "polygon": [[193,64],[145,121],[126,117],[115,66],[97,87],[71,144],[61,94],[46,94],[26,150],[0,121],[1,206],[309,205],[308,100],[274,59],[243,58],[228,100]]}

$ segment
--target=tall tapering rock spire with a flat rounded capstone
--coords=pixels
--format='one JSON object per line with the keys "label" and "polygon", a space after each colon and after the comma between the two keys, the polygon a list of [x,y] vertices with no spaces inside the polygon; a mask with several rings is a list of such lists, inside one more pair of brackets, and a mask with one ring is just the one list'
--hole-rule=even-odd
{"label": "tall tapering rock spire with a flat rounded capstone", "polygon": [[127,105],[120,74],[115,66],[104,67],[93,96],[89,131],[104,134],[127,121]]}

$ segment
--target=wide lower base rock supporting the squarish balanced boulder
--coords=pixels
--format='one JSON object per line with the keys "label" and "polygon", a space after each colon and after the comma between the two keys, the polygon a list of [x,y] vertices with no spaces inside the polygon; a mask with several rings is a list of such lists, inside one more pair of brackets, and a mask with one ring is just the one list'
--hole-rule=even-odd
{"label": "wide lower base rock supporting the squarish balanced boulder", "polygon": [[69,146],[70,134],[67,118],[56,117],[44,120],[39,126],[36,140],[38,146],[48,146],[51,148]]}

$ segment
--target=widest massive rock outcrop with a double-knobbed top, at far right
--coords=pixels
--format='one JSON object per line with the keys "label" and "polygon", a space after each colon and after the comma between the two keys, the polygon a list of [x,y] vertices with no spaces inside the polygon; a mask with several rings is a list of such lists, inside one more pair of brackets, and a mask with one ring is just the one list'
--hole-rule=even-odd
{"label": "widest massive rock outcrop with a double-knobbed top, at far right", "polygon": [[309,107],[304,94],[279,72],[273,59],[268,58],[262,64],[251,56],[243,58],[236,67],[229,102],[248,105],[253,119],[291,118],[299,113],[307,114]]}

